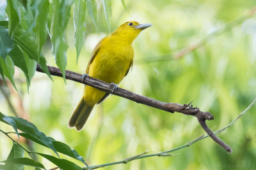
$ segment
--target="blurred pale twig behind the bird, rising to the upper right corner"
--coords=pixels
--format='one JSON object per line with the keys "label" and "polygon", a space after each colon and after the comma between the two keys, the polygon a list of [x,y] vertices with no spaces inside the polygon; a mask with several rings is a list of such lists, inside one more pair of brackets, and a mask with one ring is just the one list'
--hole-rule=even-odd
{"label": "blurred pale twig behind the bird, rising to the upper right corner", "polygon": [[188,53],[191,53],[194,50],[196,50],[197,48],[200,48],[201,46],[205,45],[205,43],[208,43],[216,36],[220,36],[224,32],[229,31],[230,29],[235,27],[236,25],[241,24],[247,18],[253,17],[253,15],[255,15],[255,13],[256,13],[256,7],[253,7],[250,10],[248,10],[245,13],[245,15],[242,15],[241,17],[238,17],[235,20],[232,20],[231,22],[226,24],[224,27],[221,27],[221,29],[218,29],[217,31],[212,32],[211,34],[209,34],[208,36],[203,38],[198,43],[195,43],[194,45],[182,48],[182,50],[179,50],[174,53],[166,54],[161,57],[147,57],[147,58],[137,59],[137,60],[134,60],[134,63],[141,64],[141,63],[145,63],[145,62],[158,62],[158,61],[164,61],[164,60],[170,60],[170,59],[180,59],[184,55],[187,55]]}

